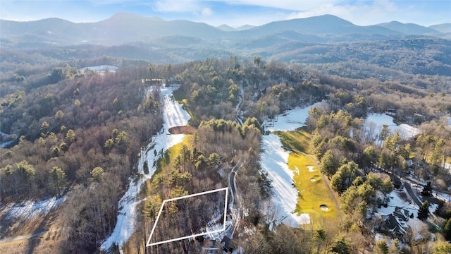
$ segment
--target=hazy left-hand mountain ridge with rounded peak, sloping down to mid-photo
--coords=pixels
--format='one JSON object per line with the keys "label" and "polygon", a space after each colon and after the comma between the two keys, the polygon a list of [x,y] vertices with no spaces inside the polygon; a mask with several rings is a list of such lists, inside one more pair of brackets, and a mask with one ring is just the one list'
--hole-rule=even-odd
{"label": "hazy left-hand mountain ridge with rounded peak, sloping down to mid-photo", "polygon": [[[71,23],[58,18],[30,22],[1,20],[3,38],[49,43],[114,45],[136,41],[154,40],[166,36],[218,37],[221,30],[205,23],[187,20],[166,21],[131,13],[116,13],[96,23]],[[3,39],[2,38],[2,39]]]}

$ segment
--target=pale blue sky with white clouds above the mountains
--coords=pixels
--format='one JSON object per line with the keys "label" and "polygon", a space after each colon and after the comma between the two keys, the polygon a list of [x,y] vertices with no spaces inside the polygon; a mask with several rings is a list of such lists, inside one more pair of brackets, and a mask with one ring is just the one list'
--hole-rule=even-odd
{"label": "pale blue sky with white clouds above the mountains", "polygon": [[425,26],[451,23],[451,0],[0,0],[0,18],[6,20],[96,22],[121,11],[233,27],[323,14],[356,25],[392,20]]}

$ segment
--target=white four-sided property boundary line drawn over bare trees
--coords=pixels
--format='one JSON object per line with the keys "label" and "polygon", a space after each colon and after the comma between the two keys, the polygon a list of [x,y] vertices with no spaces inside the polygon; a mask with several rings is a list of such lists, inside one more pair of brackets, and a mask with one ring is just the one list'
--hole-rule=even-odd
{"label": "white four-sided property boundary line drawn over bare trees", "polygon": [[[161,212],[163,211],[163,207],[164,207],[164,204],[166,202],[171,202],[171,201],[174,201],[174,200],[181,200],[183,198],[191,198],[191,197],[195,197],[195,196],[198,196],[198,195],[215,193],[215,192],[219,192],[219,191],[226,191],[226,202],[224,204],[224,222],[223,222],[223,228],[222,229],[218,229],[218,230],[214,230],[214,231],[208,231],[208,232],[204,232],[204,233],[200,233],[200,234],[192,234],[190,236],[183,236],[183,237],[179,237],[179,238],[173,238],[173,239],[169,239],[169,240],[166,240],[166,241],[159,241],[159,242],[156,242],[156,243],[150,243],[150,239],[154,235],[156,224],[158,223],[158,221],[160,219]],[[161,243],[171,243],[173,241],[179,241],[179,240],[183,240],[183,239],[187,239],[187,238],[193,238],[193,237],[197,237],[197,236],[204,236],[206,234],[219,233],[219,232],[225,231],[226,230],[226,218],[227,218],[227,216],[226,216],[227,215],[227,201],[228,201],[228,187],[218,188],[216,190],[204,191],[202,193],[195,193],[195,194],[191,194],[191,195],[184,195],[184,196],[181,196],[181,197],[178,197],[178,198],[170,198],[170,199],[167,199],[167,200],[163,200],[163,203],[161,204],[161,207],[160,207],[160,211],[158,212],[158,215],[156,217],[154,226],[152,227],[152,231],[150,232],[149,240],[147,240],[146,247],[156,246],[156,245],[159,245]]]}

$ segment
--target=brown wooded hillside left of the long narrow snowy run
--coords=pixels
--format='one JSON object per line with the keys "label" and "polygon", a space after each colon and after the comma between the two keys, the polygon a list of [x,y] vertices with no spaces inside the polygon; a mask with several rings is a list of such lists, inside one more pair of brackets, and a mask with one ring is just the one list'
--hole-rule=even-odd
{"label": "brown wooded hillside left of the long narrow snowy run", "polygon": [[1,202],[76,197],[67,223],[75,244],[93,251],[115,224],[140,147],[161,128],[159,99],[130,73],[56,67],[49,75],[68,69],[75,75],[2,100],[2,131],[18,138],[2,152]]}

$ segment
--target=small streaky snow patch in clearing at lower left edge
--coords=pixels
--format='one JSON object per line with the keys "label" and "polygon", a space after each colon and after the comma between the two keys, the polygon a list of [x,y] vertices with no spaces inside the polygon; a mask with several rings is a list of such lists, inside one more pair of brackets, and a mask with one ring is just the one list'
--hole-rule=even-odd
{"label": "small streaky snow patch in clearing at lower left edge", "polygon": [[0,211],[5,212],[4,219],[33,219],[42,214],[51,212],[66,200],[66,196],[62,198],[53,197],[39,201],[25,200],[18,204],[10,203],[5,205],[0,208]]}

